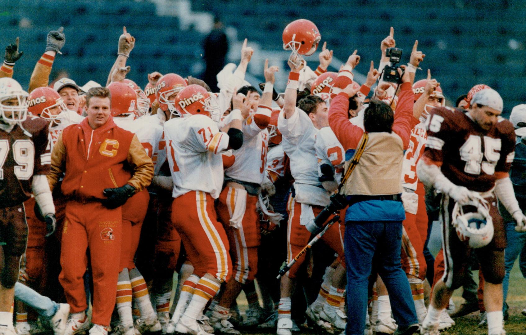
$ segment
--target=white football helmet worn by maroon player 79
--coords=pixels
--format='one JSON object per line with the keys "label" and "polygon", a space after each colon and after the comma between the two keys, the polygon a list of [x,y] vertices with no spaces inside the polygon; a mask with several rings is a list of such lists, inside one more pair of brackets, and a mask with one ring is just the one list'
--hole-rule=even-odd
{"label": "white football helmet worn by maroon player 79", "polygon": [[[0,117],[4,122],[13,124],[27,119],[27,96],[15,79],[0,78]],[[15,99],[16,102],[7,102]]]}

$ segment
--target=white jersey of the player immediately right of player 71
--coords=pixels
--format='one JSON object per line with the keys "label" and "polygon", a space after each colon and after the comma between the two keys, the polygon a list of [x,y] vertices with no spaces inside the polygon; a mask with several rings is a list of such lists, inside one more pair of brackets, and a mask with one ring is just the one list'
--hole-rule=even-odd
{"label": "white jersey of the player immediately right of player 71", "polygon": [[[260,107],[257,112],[270,116],[271,110]],[[243,121],[242,131],[243,145],[238,150],[232,151],[236,159],[234,164],[225,170],[225,175],[242,182],[260,185],[265,177],[267,165],[268,130],[266,127],[259,128],[252,114]]]}

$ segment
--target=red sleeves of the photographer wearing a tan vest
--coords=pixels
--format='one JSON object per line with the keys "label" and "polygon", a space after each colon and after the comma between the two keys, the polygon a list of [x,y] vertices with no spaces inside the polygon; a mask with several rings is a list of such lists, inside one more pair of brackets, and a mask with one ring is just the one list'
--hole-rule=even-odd
{"label": "red sleeves of the photographer wearing a tan vest", "polygon": [[[392,127],[392,131],[402,139],[404,150],[409,145],[411,129],[414,127],[413,104],[414,95],[411,83],[404,82],[400,85],[400,96]],[[363,135],[360,127],[349,122],[348,111],[349,97],[346,93],[341,92],[330,103],[329,126],[345,150],[356,149]]]}

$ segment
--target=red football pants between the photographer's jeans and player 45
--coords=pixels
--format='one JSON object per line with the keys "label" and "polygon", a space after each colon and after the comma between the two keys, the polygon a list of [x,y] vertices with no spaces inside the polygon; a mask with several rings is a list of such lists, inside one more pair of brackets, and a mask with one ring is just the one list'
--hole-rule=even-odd
{"label": "red football pants between the photographer's jeans and player 45", "polygon": [[418,210],[417,214],[406,212],[402,222],[402,269],[408,275],[426,279],[426,258],[423,255],[426,243],[428,215],[426,211],[426,191],[421,182],[417,184]]}

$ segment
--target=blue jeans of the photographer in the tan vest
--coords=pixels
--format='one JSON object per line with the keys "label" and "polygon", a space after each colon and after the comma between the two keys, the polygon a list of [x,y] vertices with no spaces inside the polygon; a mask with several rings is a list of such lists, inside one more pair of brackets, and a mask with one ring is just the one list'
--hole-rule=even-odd
{"label": "blue jeans of the photographer in the tan vest", "polygon": [[345,226],[347,265],[346,335],[363,335],[367,313],[368,277],[372,259],[385,282],[393,316],[400,328],[418,323],[406,273],[400,265],[402,222],[352,222]]}

